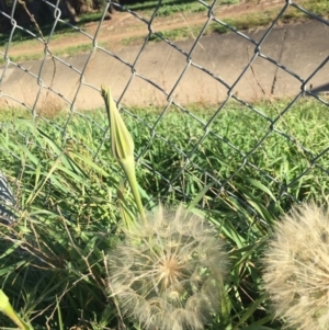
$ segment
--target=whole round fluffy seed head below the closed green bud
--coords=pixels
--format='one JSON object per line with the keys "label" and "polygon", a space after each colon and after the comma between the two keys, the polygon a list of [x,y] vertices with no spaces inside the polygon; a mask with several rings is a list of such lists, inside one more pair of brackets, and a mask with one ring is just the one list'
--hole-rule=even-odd
{"label": "whole round fluffy seed head below the closed green bud", "polygon": [[203,329],[218,310],[223,241],[200,216],[161,206],[109,254],[109,288],[143,329]]}

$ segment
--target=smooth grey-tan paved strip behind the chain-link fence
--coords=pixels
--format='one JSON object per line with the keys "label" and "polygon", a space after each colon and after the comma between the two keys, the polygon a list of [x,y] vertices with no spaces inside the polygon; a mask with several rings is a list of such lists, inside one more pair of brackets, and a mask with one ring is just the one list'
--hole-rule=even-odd
{"label": "smooth grey-tan paved strip behind the chain-link fence", "polygon": [[[264,35],[264,30],[243,33],[259,42]],[[189,53],[193,41],[175,44]],[[115,52],[115,56],[133,64],[140,47],[123,48]],[[11,99],[14,98],[33,106],[39,86],[49,86],[54,76],[52,83],[54,90],[68,102],[75,100],[76,107],[83,110],[103,105],[99,92],[90,87],[99,88],[102,83],[110,84],[115,99],[121,99],[121,102],[126,105],[166,104],[167,94],[171,94],[181,104],[191,102],[217,104],[225,100],[229,89],[249,102],[264,98],[263,91],[266,95],[275,98],[292,96],[300,91],[302,83],[296,77],[261,57],[257,57],[252,70],[249,68],[238,80],[253,56],[254,49],[251,42],[234,33],[205,36],[192,53],[192,64],[178,86],[175,82],[184,71],[188,60],[184,55],[166,43],[147,45],[135,65],[135,75],[132,73],[129,66],[102,50],[93,55],[83,76],[77,71],[84,69],[88,55],[64,58],[65,64],[56,61],[55,76],[54,62],[47,60],[41,72],[42,80],[10,65],[2,80],[1,91],[2,95],[9,95],[5,99],[11,104],[16,104]],[[316,21],[275,27],[261,45],[260,52],[306,80],[322,61],[328,60],[329,27]],[[24,62],[22,67],[38,76],[41,61]],[[206,70],[215,78],[206,73]],[[132,76],[134,77],[129,88],[123,94]],[[140,77],[154,82],[167,94]],[[79,89],[81,79],[83,84]],[[218,79],[225,81],[228,87],[220,83]],[[326,92],[329,91],[328,83],[329,65],[327,64],[308,81],[307,88]],[[46,91],[43,90],[38,105],[42,104],[45,93]],[[53,93],[47,99],[47,106],[53,106],[54,110],[66,106],[65,103],[63,98]]]}

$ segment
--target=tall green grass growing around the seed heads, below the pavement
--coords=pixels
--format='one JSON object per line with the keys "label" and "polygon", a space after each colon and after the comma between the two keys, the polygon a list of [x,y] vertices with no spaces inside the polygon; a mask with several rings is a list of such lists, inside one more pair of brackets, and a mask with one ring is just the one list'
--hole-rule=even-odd
{"label": "tall green grass growing around the seed heads, below the pavement", "polygon": [[[328,147],[328,107],[299,100],[275,121],[287,102],[276,102],[276,110],[256,104],[259,113],[231,102],[205,137],[204,125],[191,115],[207,123],[213,107],[191,106],[189,115],[172,106],[154,130],[161,109],[123,114],[140,155],[137,178],[144,204],[150,207],[163,198],[166,204],[203,205],[226,240],[231,305],[224,317],[226,329],[282,329],[272,321],[262,291],[260,257],[283,212],[297,200],[325,202],[328,191],[328,174],[318,167],[327,169],[328,157],[313,163]],[[0,120],[0,169],[22,208],[19,225],[0,224],[1,287],[34,329],[46,323],[52,329],[116,328],[121,316],[116,301],[107,298],[105,255],[121,237],[116,194],[124,177],[109,138],[103,144],[105,113],[75,115],[65,139],[58,129],[66,124],[65,112],[32,122],[24,110],[2,110]],[[132,197],[126,198],[136,215]],[[2,316],[0,320],[11,327]],[[223,322],[215,318],[207,329]]]}

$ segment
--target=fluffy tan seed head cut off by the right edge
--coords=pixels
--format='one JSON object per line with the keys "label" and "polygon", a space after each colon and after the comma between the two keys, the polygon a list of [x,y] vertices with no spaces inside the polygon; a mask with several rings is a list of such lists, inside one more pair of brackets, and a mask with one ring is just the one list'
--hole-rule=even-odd
{"label": "fluffy tan seed head cut off by the right edge", "polygon": [[329,329],[329,212],[298,206],[277,224],[264,257],[276,316],[297,329]]}

